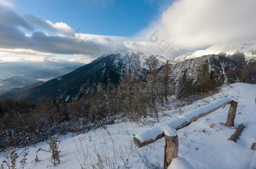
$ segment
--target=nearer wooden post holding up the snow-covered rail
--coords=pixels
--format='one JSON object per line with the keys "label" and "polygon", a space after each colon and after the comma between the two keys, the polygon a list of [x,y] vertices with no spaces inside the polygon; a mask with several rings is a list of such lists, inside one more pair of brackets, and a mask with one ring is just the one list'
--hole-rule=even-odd
{"label": "nearer wooden post holding up the snow-covered rail", "polygon": [[171,164],[172,160],[178,156],[178,135],[167,136],[165,135],[165,159],[164,159],[164,169],[167,169]]}

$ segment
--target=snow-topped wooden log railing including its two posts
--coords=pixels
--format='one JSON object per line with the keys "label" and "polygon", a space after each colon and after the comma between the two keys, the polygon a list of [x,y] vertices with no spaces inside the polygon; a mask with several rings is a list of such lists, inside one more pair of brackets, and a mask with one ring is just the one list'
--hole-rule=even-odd
{"label": "snow-topped wooden log railing including its two posts", "polygon": [[220,98],[206,106],[202,106],[192,110],[182,116],[166,121],[165,123],[152,127],[151,129],[141,131],[133,138],[133,142],[137,147],[146,146],[165,137],[165,161],[164,169],[167,169],[171,161],[178,156],[178,134],[177,130],[188,126],[191,122],[207,116],[208,114],[216,111],[217,109],[231,103],[230,110],[227,115],[227,126],[234,126],[235,113],[238,102],[232,98]]}

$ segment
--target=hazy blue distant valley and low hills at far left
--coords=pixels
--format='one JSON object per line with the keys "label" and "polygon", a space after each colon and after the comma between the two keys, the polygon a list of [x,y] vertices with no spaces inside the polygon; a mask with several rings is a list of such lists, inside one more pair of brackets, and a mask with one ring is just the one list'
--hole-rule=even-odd
{"label": "hazy blue distant valley and low hills at far left", "polygon": [[49,60],[0,62],[0,93],[62,76],[80,66],[84,63]]}

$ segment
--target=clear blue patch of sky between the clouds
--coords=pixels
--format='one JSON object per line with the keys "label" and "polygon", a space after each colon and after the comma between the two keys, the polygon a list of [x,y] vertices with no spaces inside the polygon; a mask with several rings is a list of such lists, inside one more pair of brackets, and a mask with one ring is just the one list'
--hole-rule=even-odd
{"label": "clear blue patch of sky between the clouds", "polygon": [[20,15],[63,22],[81,33],[131,36],[158,20],[172,0],[14,0]]}

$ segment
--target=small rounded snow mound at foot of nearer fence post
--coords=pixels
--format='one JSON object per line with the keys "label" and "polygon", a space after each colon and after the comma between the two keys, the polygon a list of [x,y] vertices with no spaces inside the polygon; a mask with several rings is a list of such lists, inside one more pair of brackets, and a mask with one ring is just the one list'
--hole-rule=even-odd
{"label": "small rounded snow mound at foot of nearer fence post", "polygon": [[176,157],[172,160],[168,169],[195,169],[186,159],[182,157]]}

